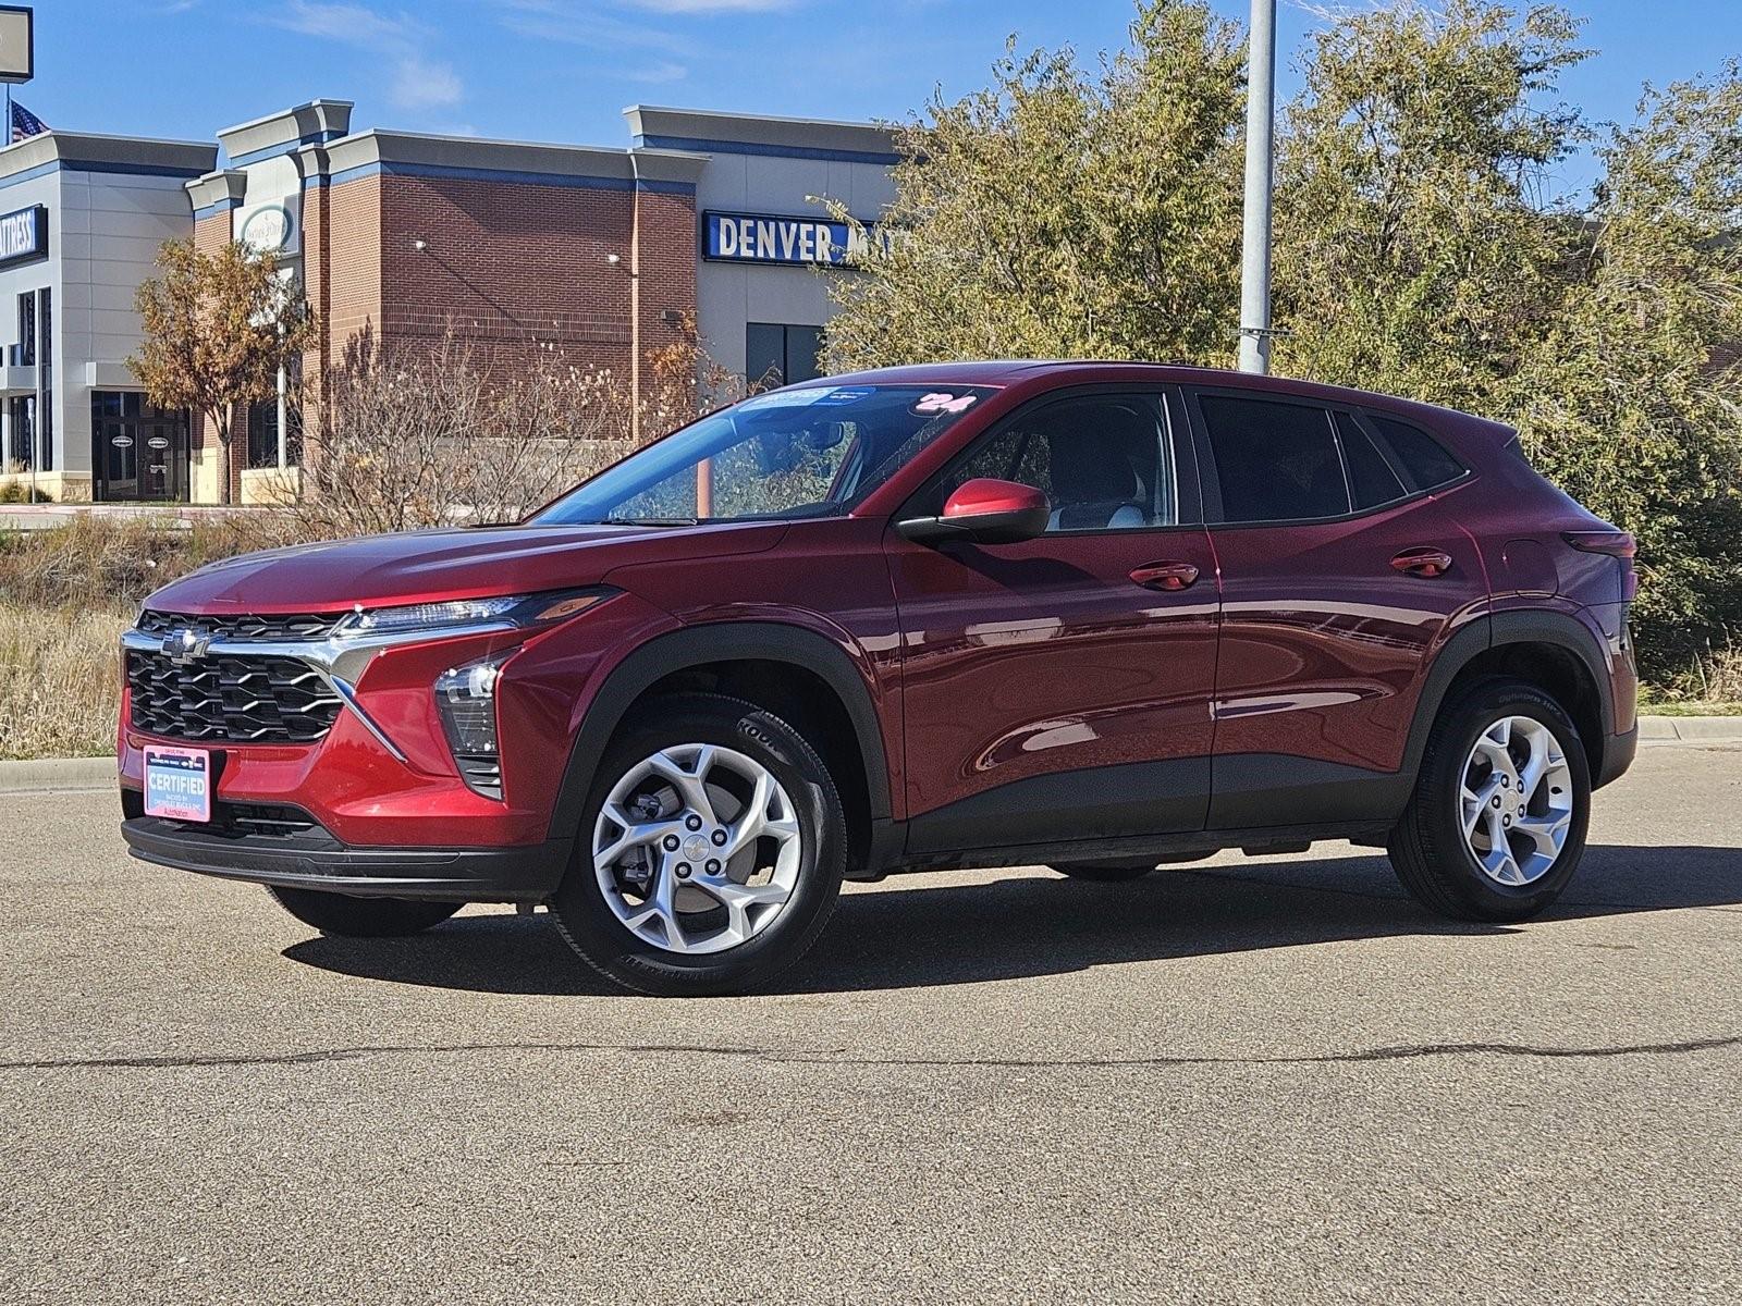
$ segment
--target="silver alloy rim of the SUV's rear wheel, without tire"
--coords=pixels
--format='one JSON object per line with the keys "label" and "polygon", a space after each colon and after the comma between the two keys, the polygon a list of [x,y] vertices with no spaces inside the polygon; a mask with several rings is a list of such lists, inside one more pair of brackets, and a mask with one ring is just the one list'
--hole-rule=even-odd
{"label": "silver alloy rim of the SUV's rear wheel, without tire", "polygon": [[1554,731],[1528,716],[1489,724],[1463,763],[1463,841],[1496,885],[1533,885],[1554,869],[1573,824],[1573,773]]}

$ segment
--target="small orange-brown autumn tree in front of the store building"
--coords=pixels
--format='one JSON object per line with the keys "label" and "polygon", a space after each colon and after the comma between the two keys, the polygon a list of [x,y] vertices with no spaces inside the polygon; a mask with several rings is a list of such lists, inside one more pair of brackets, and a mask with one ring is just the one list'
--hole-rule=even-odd
{"label": "small orange-brown autumn tree in front of the store building", "polygon": [[235,411],[279,394],[279,371],[314,331],[308,301],[272,254],[240,242],[206,252],[192,240],[165,240],[157,265],[160,275],[134,296],[145,341],[127,366],[153,404],[190,409],[216,427],[219,502],[230,503]]}

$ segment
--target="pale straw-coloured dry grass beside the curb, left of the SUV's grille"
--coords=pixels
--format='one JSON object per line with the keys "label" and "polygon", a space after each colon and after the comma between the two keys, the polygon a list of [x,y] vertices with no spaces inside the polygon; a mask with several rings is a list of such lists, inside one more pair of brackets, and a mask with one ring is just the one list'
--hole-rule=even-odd
{"label": "pale straw-coloured dry grass beside the curb, left of the SUV's grille", "polygon": [[129,620],[131,608],[0,603],[0,757],[115,751]]}

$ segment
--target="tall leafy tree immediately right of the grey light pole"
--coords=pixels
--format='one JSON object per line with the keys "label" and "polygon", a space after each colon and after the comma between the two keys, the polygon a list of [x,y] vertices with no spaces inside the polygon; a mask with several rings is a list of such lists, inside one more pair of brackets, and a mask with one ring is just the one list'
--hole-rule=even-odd
{"label": "tall leafy tree immediately right of the grey light pole", "polygon": [[1585,57],[1554,5],[1334,12],[1310,40],[1277,176],[1277,371],[1495,413],[1557,296],[1575,216],[1547,171]]}

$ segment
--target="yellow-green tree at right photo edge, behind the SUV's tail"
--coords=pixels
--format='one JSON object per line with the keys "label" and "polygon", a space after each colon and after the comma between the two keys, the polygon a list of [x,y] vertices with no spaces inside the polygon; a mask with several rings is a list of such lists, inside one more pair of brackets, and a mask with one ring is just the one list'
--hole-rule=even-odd
{"label": "yellow-green tree at right photo edge, behind the SUV's tail", "polygon": [[1536,465],[1639,540],[1648,670],[1742,623],[1742,68],[1648,89],[1502,407]]}

